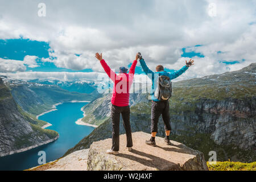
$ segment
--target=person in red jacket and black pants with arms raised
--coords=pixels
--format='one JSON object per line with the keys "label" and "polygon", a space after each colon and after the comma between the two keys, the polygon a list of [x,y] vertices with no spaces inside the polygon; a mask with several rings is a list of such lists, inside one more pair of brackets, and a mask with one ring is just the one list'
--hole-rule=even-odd
{"label": "person in red jacket and black pants with arms raised", "polygon": [[126,147],[128,151],[131,151],[133,147],[133,140],[131,138],[131,126],[130,126],[130,107],[129,107],[129,97],[130,97],[130,86],[133,83],[133,77],[135,72],[135,67],[139,55],[136,55],[136,60],[133,61],[130,71],[127,74],[128,69],[125,67],[119,68],[119,74],[115,74],[112,69],[109,68],[105,60],[102,59],[102,53],[96,53],[96,58],[100,61],[105,72],[108,74],[110,79],[114,82],[113,94],[112,94],[112,109],[111,109],[111,119],[112,119],[112,148],[106,151],[108,154],[118,154],[119,152],[119,122],[120,114],[123,118],[123,126],[126,131],[127,144]]}

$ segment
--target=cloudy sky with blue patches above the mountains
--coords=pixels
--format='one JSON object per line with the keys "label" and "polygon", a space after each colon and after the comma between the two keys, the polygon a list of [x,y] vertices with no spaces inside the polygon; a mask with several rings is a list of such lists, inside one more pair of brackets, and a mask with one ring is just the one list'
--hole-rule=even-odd
{"label": "cloudy sky with blue patches above the mountains", "polygon": [[152,70],[195,59],[177,80],[241,69],[256,62],[256,1],[0,0],[0,75],[90,80],[95,52],[116,71],[137,52]]}

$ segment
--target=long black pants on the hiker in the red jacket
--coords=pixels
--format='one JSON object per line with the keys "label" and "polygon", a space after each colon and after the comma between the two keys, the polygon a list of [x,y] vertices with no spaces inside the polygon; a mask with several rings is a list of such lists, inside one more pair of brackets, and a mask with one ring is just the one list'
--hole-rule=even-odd
{"label": "long black pants on the hiker in the red jacket", "polygon": [[123,118],[123,127],[125,127],[127,144],[126,147],[133,147],[133,139],[131,138],[130,126],[130,107],[119,107],[112,104],[111,118],[112,118],[112,150],[119,151],[119,123],[120,114]]}

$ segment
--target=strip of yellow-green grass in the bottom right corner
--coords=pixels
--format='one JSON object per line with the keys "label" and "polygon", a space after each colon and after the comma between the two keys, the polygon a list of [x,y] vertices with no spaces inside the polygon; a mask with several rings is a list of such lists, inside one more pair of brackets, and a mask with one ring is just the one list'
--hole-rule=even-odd
{"label": "strip of yellow-green grass in the bottom right corner", "polygon": [[210,171],[256,171],[256,162],[241,163],[241,162],[216,162],[216,164],[209,164],[207,166]]}

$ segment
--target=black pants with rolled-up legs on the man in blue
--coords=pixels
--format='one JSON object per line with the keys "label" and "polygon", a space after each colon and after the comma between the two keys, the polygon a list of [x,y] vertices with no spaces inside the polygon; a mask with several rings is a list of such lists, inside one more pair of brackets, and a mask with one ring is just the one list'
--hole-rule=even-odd
{"label": "black pants with rolled-up legs on the man in blue", "polygon": [[151,133],[158,132],[158,121],[162,114],[164,129],[166,131],[171,130],[170,114],[169,114],[169,102],[155,102],[152,101],[151,105]]}

